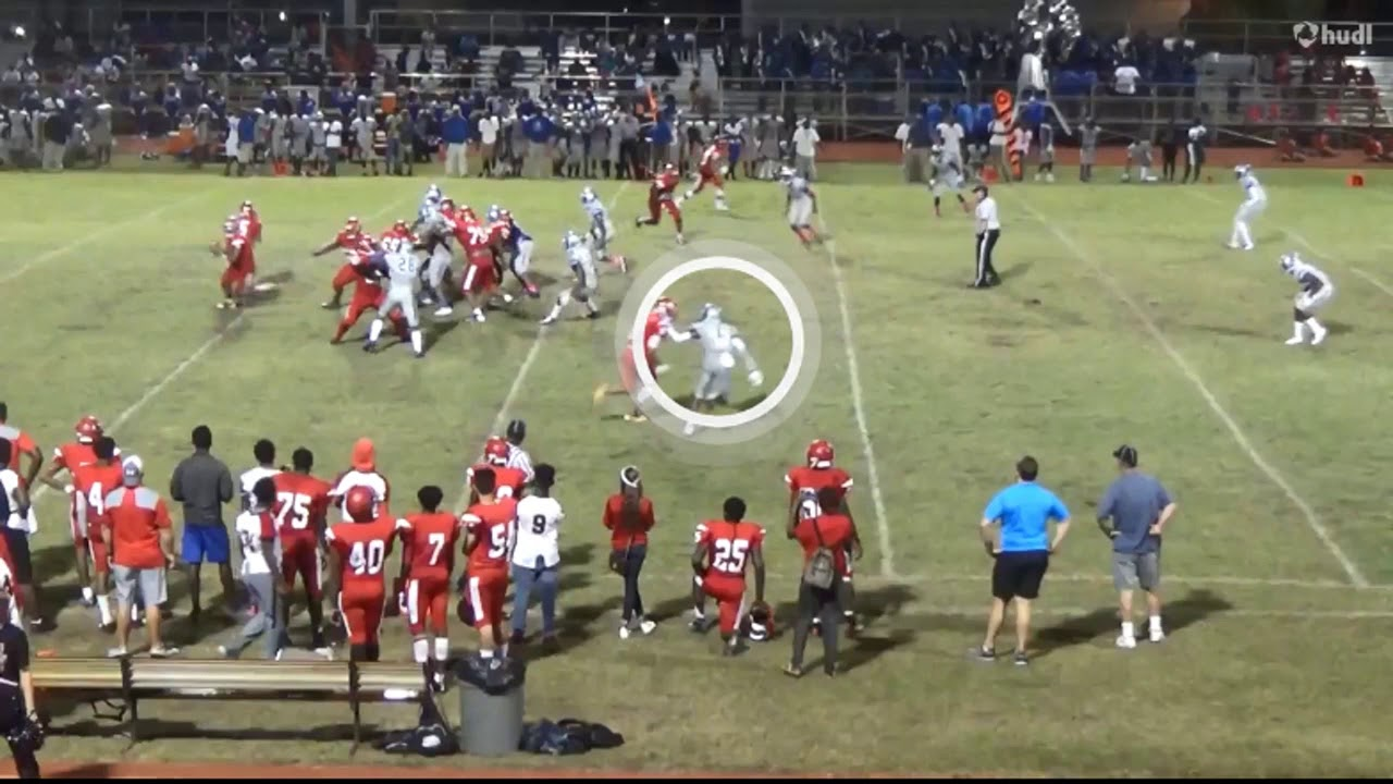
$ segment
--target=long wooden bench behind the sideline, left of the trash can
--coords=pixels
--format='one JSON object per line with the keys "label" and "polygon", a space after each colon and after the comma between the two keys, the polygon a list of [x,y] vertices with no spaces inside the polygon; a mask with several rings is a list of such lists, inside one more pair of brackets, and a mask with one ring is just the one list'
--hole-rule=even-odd
{"label": "long wooden bench behind the sideline, left of the trash can", "polygon": [[[418,664],[355,661],[242,661],[196,658],[36,658],[35,689],[117,709],[131,744],[143,700],[315,700],[352,709],[354,751],[362,741],[364,703],[429,696]],[[100,714],[98,714],[100,717]]]}

